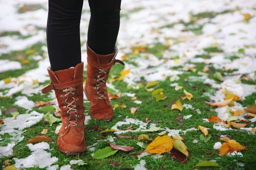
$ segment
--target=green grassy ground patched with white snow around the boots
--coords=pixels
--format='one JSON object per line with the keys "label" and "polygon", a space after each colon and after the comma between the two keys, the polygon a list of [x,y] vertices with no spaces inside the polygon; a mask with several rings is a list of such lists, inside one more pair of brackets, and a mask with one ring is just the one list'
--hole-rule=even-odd
{"label": "green grassy ground patched with white snow around the boots", "polygon": [[[46,110],[34,106],[39,101],[55,101],[53,92],[47,95],[40,93],[41,88],[49,83],[45,39],[47,0],[2,0],[0,119],[4,124],[0,125],[0,167],[5,168],[6,161],[15,167],[28,170],[189,170],[200,161],[213,160],[222,170],[255,169],[256,136],[255,132],[250,131],[255,127],[256,119],[249,117],[247,113],[236,117],[237,123],[244,123],[242,120],[252,122],[241,129],[232,126],[227,128],[224,123],[213,124],[207,121],[209,116],[218,116],[225,121],[232,116],[229,108],[233,111],[244,110],[255,104],[255,7],[253,0],[124,0],[117,40],[117,58],[122,59],[125,66],[114,65],[108,90],[113,94],[121,92],[122,99],[112,99],[111,102],[113,106],[124,104],[126,108],[116,108],[115,119],[110,123],[92,121],[87,116],[85,134],[90,147],[82,156],[67,157],[59,153],[56,143],[40,143],[34,149],[32,144],[27,145],[29,139],[42,135],[43,129],[48,129],[45,136],[56,142],[55,129],[60,125],[59,122],[49,125],[43,118],[48,113],[52,115],[55,112],[56,104],[52,105],[55,108]],[[81,17],[81,50],[85,75],[85,42],[89,18],[90,11],[85,1]],[[122,70],[125,70],[122,72],[123,77],[118,81],[115,78],[120,76]],[[159,81],[159,84],[145,89],[145,85],[151,81]],[[190,101],[180,99],[185,94],[183,89],[175,90],[177,85],[183,86],[193,98]],[[151,95],[151,88],[162,88],[166,99],[156,101]],[[202,102],[223,101],[225,93],[222,91],[225,89],[239,96],[240,100],[234,102],[234,106],[215,109]],[[131,99],[134,96],[137,100]],[[176,100],[182,102],[182,112],[171,109]],[[89,102],[86,99],[84,106],[85,114],[88,115]],[[131,107],[139,109],[131,114]],[[10,111],[11,108],[17,110]],[[19,115],[13,111],[17,111]],[[179,121],[175,119],[177,116],[182,117],[184,125],[178,124]],[[145,123],[146,118],[151,122]],[[133,136],[134,139],[115,137],[114,133],[100,133],[113,126],[115,129],[126,130],[131,124],[131,130],[115,133]],[[197,130],[198,125],[209,128],[211,139],[208,142],[199,139],[201,131]],[[94,126],[99,129],[91,130],[95,129]],[[143,153],[145,156],[140,155],[138,158],[135,153],[145,149],[137,145],[137,137],[140,134],[151,136],[151,132],[140,131],[141,128],[148,129],[150,126],[161,127],[154,132],[153,139],[159,136],[157,133],[165,130],[165,135],[168,136],[174,133],[183,136],[184,132],[189,161],[182,164],[172,159],[170,153],[163,153],[157,159]],[[219,150],[213,146],[216,142],[223,143],[219,140],[221,135],[228,135],[248,150],[241,150],[234,156],[220,156]],[[133,146],[135,149],[128,153],[119,150],[105,159],[93,159],[96,150],[109,146],[101,140],[102,137],[115,144]],[[71,160],[79,159],[87,165],[72,164]]]}

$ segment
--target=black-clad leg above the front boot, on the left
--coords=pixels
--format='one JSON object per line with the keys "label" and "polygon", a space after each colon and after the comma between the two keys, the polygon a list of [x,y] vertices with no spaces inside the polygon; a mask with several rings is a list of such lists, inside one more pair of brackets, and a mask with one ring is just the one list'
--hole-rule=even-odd
{"label": "black-clad leg above the front boot, on the left", "polygon": [[47,47],[52,71],[81,62],[80,19],[83,0],[49,0]]}

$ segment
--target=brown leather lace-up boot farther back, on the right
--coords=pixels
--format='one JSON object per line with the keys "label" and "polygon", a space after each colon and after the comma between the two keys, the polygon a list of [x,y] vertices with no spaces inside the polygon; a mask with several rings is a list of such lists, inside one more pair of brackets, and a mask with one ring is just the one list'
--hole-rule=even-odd
{"label": "brown leather lace-up boot farther back, on the right", "polygon": [[111,67],[116,63],[125,65],[124,62],[115,59],[118,52],[115,47],[114,53],[100,55],[93,52],[87,45],[87,79],[84,86],[84,93],[90,100],[90,116],[92,119],[105,120],[113,119],[113,109],[108,98],[106,82]]}

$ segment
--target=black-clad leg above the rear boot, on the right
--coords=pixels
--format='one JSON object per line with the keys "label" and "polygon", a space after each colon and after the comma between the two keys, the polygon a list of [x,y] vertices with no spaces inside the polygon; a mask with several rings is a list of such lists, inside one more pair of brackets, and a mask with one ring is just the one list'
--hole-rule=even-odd
{"label": "black-clad leg above the rear boot, on the right", "polygon": [[119,31],[121,0],[88,1],[91,12],[88,46],[96,54],[111,54]]}

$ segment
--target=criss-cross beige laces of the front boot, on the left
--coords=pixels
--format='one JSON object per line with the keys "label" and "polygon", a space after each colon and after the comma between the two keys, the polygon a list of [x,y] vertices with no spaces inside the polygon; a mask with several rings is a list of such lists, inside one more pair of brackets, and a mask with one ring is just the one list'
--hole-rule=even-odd
{"label": "criss-cross beige laces of the front boot, on the left", "polygon": [[[66,123],[69,123],[65,129],[68,129],[70,127],[81,127],[79,124],[77,124],[76,122],[80,122],[80,120],[78,120],[81,116],[79,116],[77,114],[77,112],[79,112],[78,109],[76,109],[79,105],[76,105],[76,101],[78,101],[78,98],[75,98],[74,96],[76,94],[78,94],[78,92],[75,92],[77,86],[73,86],[73,87],[70,87],[70,88],[66,88],[66,89],[60,89],[60,91],[64,92],[65,94],[61,95],[62,98],[66,98],[66,100],[63,102],[63,104],[66,104],[64,105],[63,108],[66,108],[67,111],[65,111],[65,114],[69,114],[69,116],[67,117],[67,122]],[[72,98],[67,98],[67,96],[71,94],[72,95]],[[73,99],[71,102],[67,102],[68,99]],[[73,112],[71,112],[73,111]],[[75,112],[75,113],[74,113]],[[72,118],[72,120],[71,120]]]}

